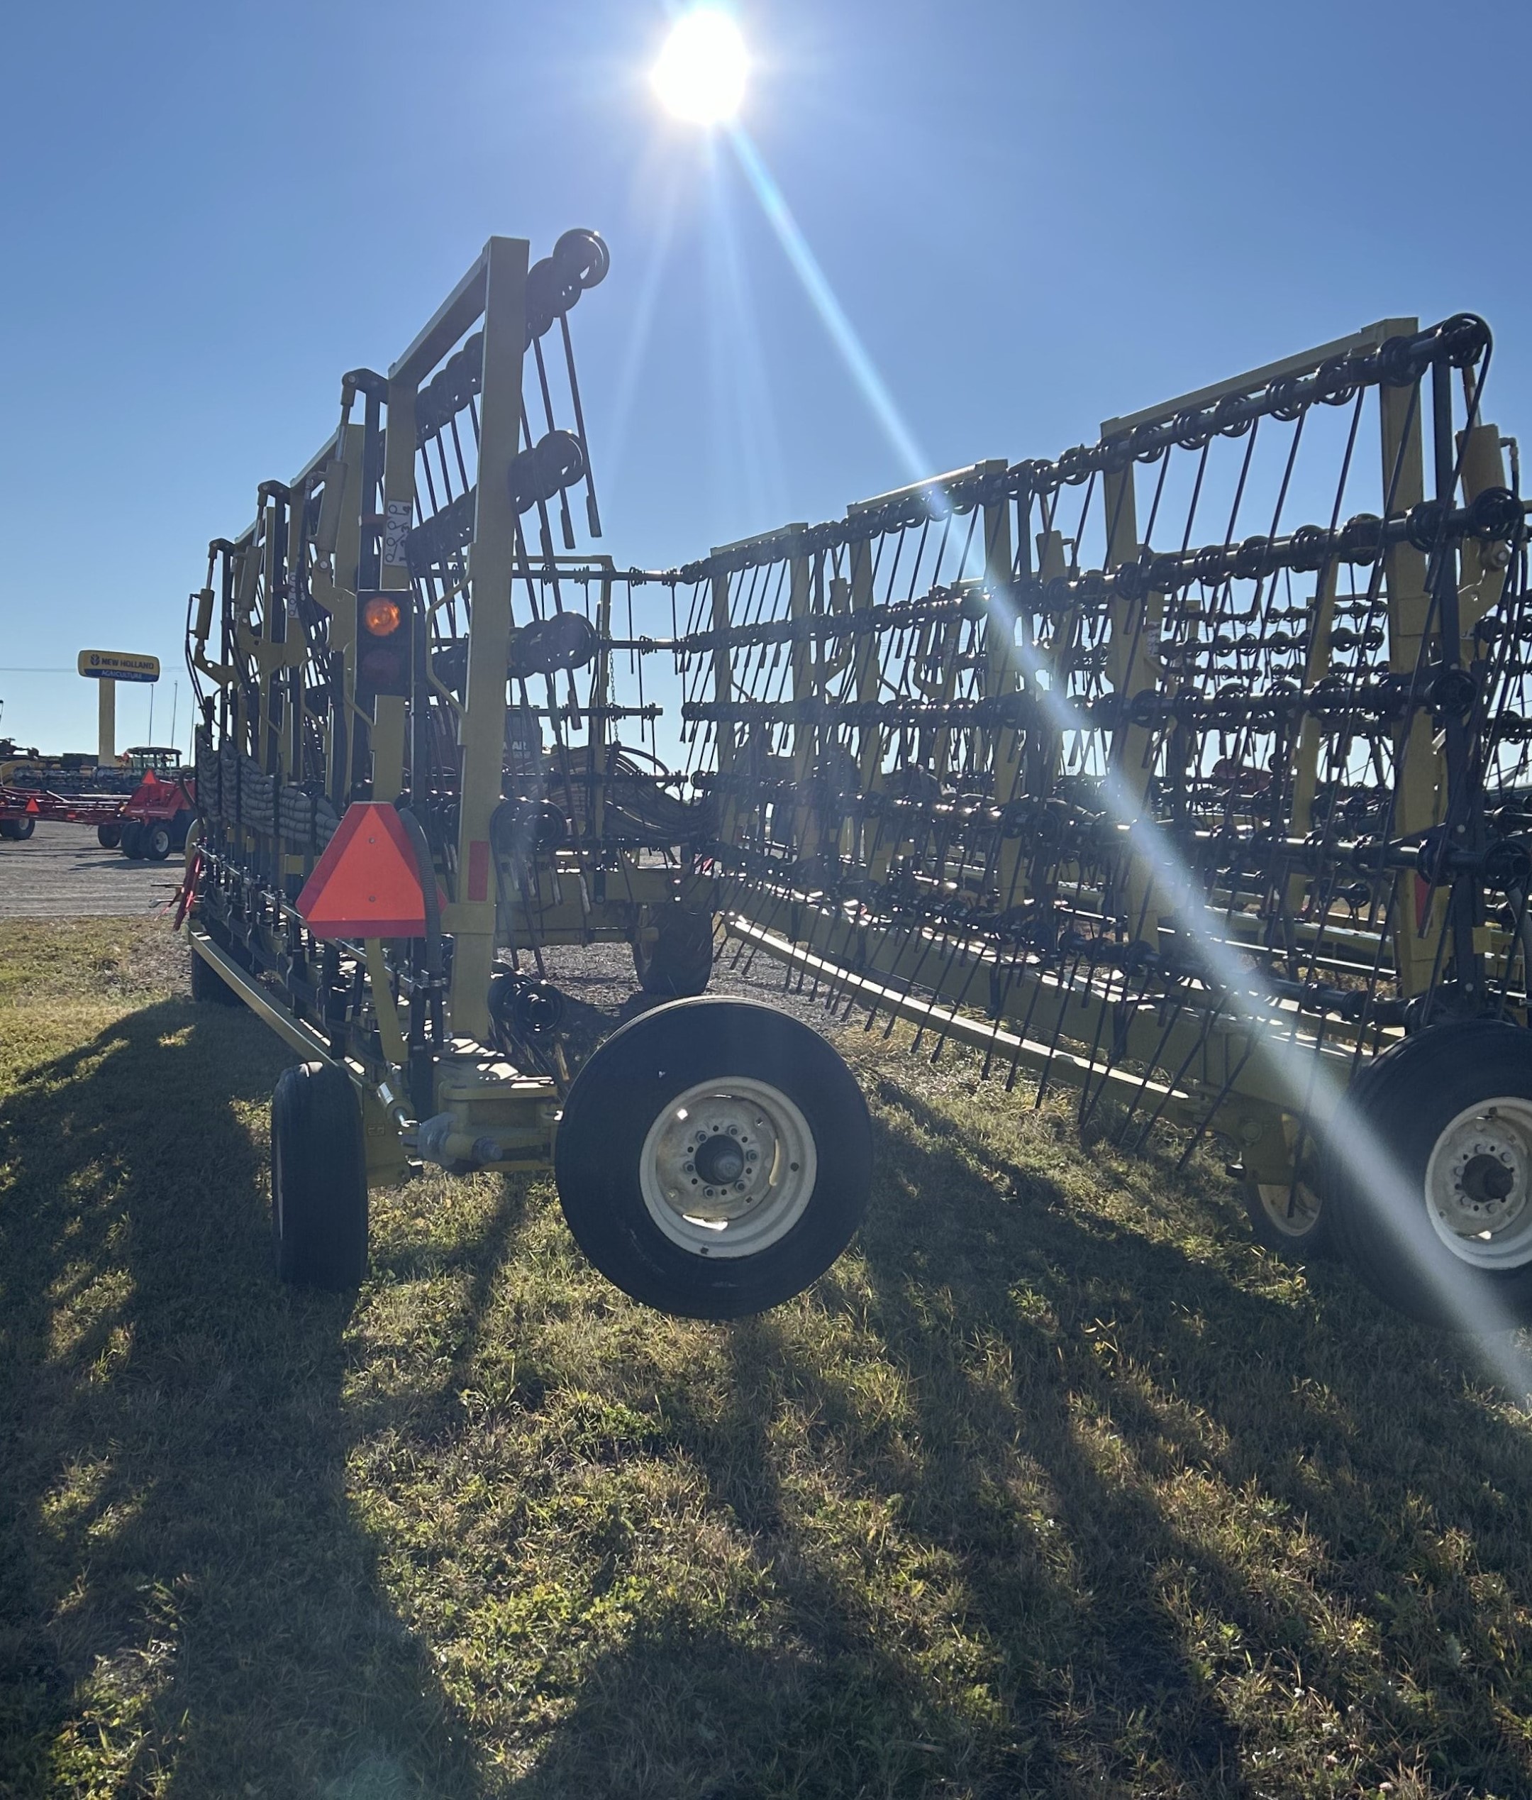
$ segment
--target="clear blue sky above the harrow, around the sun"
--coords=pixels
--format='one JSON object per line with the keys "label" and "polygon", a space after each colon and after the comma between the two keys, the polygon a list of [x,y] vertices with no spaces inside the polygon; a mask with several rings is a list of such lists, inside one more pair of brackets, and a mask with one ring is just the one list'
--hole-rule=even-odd
{"label": "clear blue sky above the harrow, around the sun", "polygon": [[[1491,416],[1532,428],[1525,4],[736,13],[745,124],[933,470],[1051,455],[1372,319],[1462,308],[1498,333]],[[738,164],[659,115],[666,18],[7,13],[0,731],[92,747],[83,680],[9,670],[101,646],[162,657],[164,738],[209,536],[308,459],[342,371],[387,367],[491,232],[612,247],[572,322],[619,562],[906,479]],[[119,742],[146,724],[148,689],[124,689]]]}

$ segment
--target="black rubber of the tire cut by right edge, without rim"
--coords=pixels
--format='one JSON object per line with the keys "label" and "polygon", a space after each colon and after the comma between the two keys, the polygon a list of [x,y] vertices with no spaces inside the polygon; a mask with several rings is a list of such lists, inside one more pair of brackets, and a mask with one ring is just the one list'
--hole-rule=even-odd
{"label": "black rubber of the tire cut by right edge, without rim", "polygon": [[[1460,1262],[1426,1202],[1426,1166],[1442,1132],[1498,1096],[1532,1100],[1532,1033],[1482,1019],[1435,1026],[1368,1064],[1327,1132],[1325,1213],[1336,1247],[1379,1298],[1428,1325],[1471,1332],[1532,1319],[1532,1262]],[[1388,1147],[1408,1204],[1377,1192],[1343,1154],[1359,1130]]]}

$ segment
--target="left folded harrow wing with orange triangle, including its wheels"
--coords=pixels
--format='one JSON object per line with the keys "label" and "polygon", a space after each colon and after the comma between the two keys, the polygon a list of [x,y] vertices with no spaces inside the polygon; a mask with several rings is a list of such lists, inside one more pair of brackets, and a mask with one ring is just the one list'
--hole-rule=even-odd
{"label": "left folded harrow wing with orange triangle, including its wheels", "polygon": [[[493,238],[191,599],[193,988],[306,1058],[272,1105],[288,1280],[355,1283],[369,1184],[421,1161],[553,1163],[598,1267],[713,1318],[812,1282],[866,1202],[834,1049],[700,997],[713,824],[653,754],[632,581],[581,547],[569,315],[605,272],[594,232]],[[544,952],[603,940],[657,1004],[596,1042]]]}

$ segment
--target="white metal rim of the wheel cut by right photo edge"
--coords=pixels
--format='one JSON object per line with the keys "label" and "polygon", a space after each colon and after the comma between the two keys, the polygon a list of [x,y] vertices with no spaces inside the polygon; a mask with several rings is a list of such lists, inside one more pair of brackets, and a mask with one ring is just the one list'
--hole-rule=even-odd
{"label": "white metal rim of the wheel cut by right photo edge", "polygon": [[1426,1213],[1458,1262],[1532,1262],[1532,1100],[1485,1100],[1447,1125],[1426,1165]]}

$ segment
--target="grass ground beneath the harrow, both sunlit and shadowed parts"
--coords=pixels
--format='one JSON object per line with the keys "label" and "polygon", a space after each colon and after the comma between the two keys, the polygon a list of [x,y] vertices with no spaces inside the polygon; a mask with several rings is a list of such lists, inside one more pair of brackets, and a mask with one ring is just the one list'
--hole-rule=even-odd
{"label": "grass ground beneath the harrow, both sunlit and shadowed parts", "polygon": [[1532,1793],[1532,1422],[1212,1157],[852,1033],[871,1217],[767,1318],[545,1179],[288,1292],[283,1053],[176,954],[0,929],[0,1793]]}

